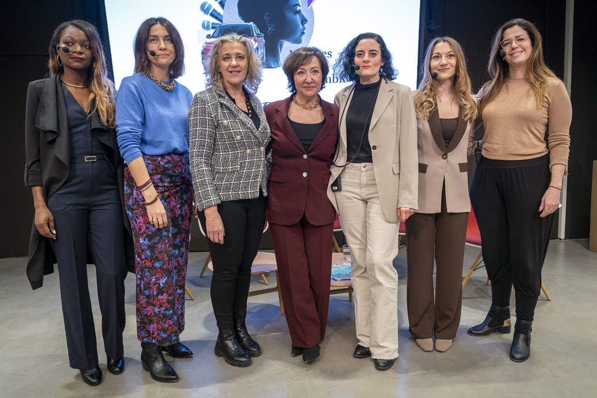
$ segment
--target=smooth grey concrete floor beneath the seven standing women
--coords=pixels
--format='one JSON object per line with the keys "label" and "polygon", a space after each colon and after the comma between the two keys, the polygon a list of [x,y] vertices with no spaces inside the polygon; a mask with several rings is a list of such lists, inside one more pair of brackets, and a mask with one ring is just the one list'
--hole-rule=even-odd
{"label": "smooth grey concrete floor beneath the seven standing women", "polygon": [[[346,294],[333,295],[321,357],[310,365],[290,356],[290,337],[276,294],[249,298],[247,323],[263,354],[248,368],[233,368],[213,354],[217,328],[211,311],[211,272],[199,278],[205,253],[192,253],[187,286],[184,343],[192,359],[171,360],[180,376],[174,384],[153,381],[141,368],[136,337],[134,276],[127,285],[124,374],[106,370],[96,278],[89,268],[96,308],[100,367],[104,380],[90,387],[70,369],[64,340],[57,273],[31,291],[24,258],[0,259],[0,397],[595,397],[597,396],[597,254],[587,240],[552,240],[543,280],[552,301],[541,295],[533,325],[531,358],[508,358],[512,334],[475,338],[469,326],[481,322],[490,306],[484,269],[473,274],[463,291],[461,326],[445,353],[426,353],[408,332],[406,255],[396,258],[399,294],[399,357],[386,372],[371,359],[355,359],[353,304]],[[478,249],[467,247],[463,274]],[[270,283],[275,278],[270,277]],[[263,286],[254,277],[252,289]],[[170,357],[167,357],[170,359]]]}

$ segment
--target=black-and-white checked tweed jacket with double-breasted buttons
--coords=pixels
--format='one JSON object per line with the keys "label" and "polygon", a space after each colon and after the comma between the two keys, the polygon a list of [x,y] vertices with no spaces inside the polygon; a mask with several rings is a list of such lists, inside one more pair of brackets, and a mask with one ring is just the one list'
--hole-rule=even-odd
{"label": "black-and-white checked tweed jacket with double-breasted buttons", "polygon": [[259,129],[226,92],[208,88],[189,107],[189,161],[197,211],[227,200],[267,195],[265,147],[269,124],[251,94]]}

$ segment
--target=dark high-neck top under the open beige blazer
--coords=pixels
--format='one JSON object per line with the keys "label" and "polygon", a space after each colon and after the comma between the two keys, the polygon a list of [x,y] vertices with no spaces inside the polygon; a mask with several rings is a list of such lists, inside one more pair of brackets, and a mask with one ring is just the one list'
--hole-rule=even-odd
{"label": "dark high-neck top under the open beige blazer", "polygon": [[[369,126],[373,116],[374,101],[381,85],[355,83],[355,91],[346,112],[346,159],[350,163],[373,163],[369,144]],[[362,137],[362,143],[361,143]],[[361,147],[359,149],[359,143]]]}

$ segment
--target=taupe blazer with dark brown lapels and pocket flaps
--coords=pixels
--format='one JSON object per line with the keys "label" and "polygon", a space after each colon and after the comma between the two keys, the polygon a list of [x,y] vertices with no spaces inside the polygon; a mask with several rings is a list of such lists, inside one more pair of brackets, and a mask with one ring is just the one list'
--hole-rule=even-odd
{"label": "taupe blazer with dark brown lapels and pocket flaps", "polygon": [[[418,91],[413,91],[413,97]],[[446,206],[450,213],[470,211],[467,155],[474,150],[475,127],[458,115],[454,137],[446,147],[438,110],[429,119],[417,115],[418,213],[441,212],[442,187],[446,184]]]}

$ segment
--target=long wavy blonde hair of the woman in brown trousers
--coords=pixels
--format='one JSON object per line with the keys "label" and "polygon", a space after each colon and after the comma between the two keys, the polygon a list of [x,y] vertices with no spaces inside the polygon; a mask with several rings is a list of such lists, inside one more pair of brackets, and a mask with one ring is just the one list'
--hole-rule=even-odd
{"label": "long wavy blonde hair of the woman in brown trousers", "polygon": [[431,77],[431,57],[435,45],[444,42],[452,47],[454,55],[456,55],[456,76],[454,76],[454,92],[456,100],[461,107],[462,118],[474,123],[479,115],[477,102],[471,94],[470,78],[466,71],[466,59],[464,58],[464,51],[461,45],[451,38],[444,36],[433,39],[427,46],[425,51],[425,58],[421,65],[421,83],[418,85],[418,92],[414,97],[414,109],[417,115],[423,119],[429,119],[429,115],[434,109],[438,107],[437,102],[437,88],[438,83]]}

